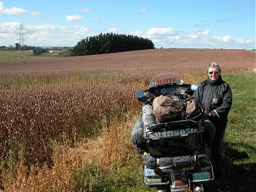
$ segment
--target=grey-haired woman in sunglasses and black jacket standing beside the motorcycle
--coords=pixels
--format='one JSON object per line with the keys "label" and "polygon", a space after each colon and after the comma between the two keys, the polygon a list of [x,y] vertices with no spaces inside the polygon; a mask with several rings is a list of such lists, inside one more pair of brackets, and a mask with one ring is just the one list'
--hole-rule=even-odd
{"label": "grey-haired woman in sunglasses and black jacket standing beside the motorcycle", "polygon": [[224,176],[223,138],[228,122],[228,112],[232,105],[232,92],[229,84],[221,78],[221,69],[218,63],[208,65],[207,80],[203,81],[194,92],[194,99],[205,108],[205,117],[216,128],[212,142],[214,157],[214,171],[219,176]]}

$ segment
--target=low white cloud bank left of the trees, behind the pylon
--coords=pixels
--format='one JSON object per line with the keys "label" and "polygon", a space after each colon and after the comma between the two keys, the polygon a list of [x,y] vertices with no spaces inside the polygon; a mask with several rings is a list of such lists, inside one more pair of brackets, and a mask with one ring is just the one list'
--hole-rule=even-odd
{"label": "low white cloud bank left of the trees, behind the pylon", "polygon": [[[0,21],[0,46],[13,46],[17,43],[16,28],[20,22],[1,22]],[[63,25],[29,25],[22,23],[26,28],[26,39],[29,46],[75,46],[81,39],[89,36],[99,35],[99,32],[91,31],[85,27],[76,25],[69,28]]]}

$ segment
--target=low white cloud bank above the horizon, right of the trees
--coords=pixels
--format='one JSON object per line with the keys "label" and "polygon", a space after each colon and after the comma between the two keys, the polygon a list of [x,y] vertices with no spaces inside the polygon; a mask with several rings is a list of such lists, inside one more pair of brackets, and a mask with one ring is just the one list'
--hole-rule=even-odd
{"label": "low white cloud bank above the horizon, right of the trees", "polygon": [[[135,34],[135,32],[131,32]],[[143,35],[144,34],[144,35]],[[243,48],[253,47],[252,40],[233,39],[231,36],[211,36],[209,29],[187,33],[170,27],[150,28],[140,36],[146,37],[155,47],[164,48]]]}

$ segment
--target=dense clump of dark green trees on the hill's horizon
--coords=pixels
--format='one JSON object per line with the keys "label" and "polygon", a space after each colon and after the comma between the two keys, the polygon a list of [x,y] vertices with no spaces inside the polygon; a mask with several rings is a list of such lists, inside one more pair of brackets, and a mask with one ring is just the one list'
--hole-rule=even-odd
{"label": "dense clump of dark green trees on the hill's horizon", "polygon": [[70,56],[108,54],[113,52],[148,50],[155,48],[155,45],[149,39],[133,35],[122,35],[107,33],[98,36],[86,37],[80,40]]}

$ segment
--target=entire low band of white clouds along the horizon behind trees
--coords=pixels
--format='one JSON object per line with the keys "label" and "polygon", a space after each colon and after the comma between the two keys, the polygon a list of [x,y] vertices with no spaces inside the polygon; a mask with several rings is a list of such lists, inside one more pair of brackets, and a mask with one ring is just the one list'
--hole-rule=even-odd
{"label": "entire low band of white clouds along the horizon behind trees", "polygon": [[[0,21],[0,46],[15,45],[17,29],[20,22]],[[26,28],[26,39],[29,46],[75,46],[81,39],[99,35],[103,31],[92,31],[82,25],[73,28],[63,25],[29,25],[22,23]],[[110,28],[107,32],[136,35],[152,40],[156,48],[254,48],[255,42],[246,39],[234,39],[230,35],[212,36],[208,29],[204,31],[185,32],[176,31],[170,27],[150,28],[148,31],[123,32],[118,28]]]}

